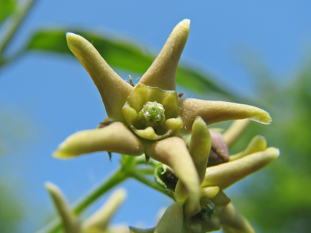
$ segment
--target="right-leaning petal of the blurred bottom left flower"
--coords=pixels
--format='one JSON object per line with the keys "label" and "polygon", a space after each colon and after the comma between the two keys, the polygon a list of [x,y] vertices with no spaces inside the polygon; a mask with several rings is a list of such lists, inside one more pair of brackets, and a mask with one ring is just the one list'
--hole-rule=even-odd
{"label": "right-leaning petal of the blurred bottom left flower", "polygon": [[111,217],[119,208],[125,199],[125,196],[126,191],[124,189],[118,189],[113,194],[111,194],[106,203],[91,217],[83,222],[82,232],[104,232]]}

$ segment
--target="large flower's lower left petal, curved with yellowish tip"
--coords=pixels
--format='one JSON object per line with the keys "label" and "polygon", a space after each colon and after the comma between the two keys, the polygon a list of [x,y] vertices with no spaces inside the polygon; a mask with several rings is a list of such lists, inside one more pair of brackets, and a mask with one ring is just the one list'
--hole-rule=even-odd
{"label": "large flower's lower left petal, curved with yellowish tip", "polygon": [[53,153],[56,158],[109,151],[139,156],[144,153],[145,145],[123,123],[115,122],[95,130],[82,130],[70,135]]}

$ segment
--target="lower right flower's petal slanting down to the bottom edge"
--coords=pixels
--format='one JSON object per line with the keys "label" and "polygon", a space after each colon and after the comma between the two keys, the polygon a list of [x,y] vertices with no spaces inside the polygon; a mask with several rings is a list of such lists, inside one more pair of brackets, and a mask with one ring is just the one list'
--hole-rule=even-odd
{"label": "lower right flower's petal slanting down to the bottom edge", "polygon": [[224,233],[256,233],[253,226],[230,202],[219,216]]}

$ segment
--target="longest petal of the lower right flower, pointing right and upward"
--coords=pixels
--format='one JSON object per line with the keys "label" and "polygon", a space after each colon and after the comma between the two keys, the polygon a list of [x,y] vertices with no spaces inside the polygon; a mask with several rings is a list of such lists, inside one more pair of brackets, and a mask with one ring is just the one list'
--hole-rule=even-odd
{"label": "longest petal of the lower right flower, pointing right and upward", "polygon": [[245,176],[265,167],[275,160],[279,154],[279,149],[269,147],[264,151],[253,153],[231,162],[208,167],[201,187],[218,186],[220,189],[228,188]]}

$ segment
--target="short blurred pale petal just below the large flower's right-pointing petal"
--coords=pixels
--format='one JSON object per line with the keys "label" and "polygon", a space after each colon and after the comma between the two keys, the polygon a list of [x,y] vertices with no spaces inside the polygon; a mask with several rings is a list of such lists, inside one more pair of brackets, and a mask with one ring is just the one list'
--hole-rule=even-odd
{"label": "short blurred pale petal just below the large flower's right-pointing petal", "polygon": [[249,119],[241,119],[234,121],[230,127],[222,134],[222,137],[228,147],[232,146],[239,136],[248,126]]}

